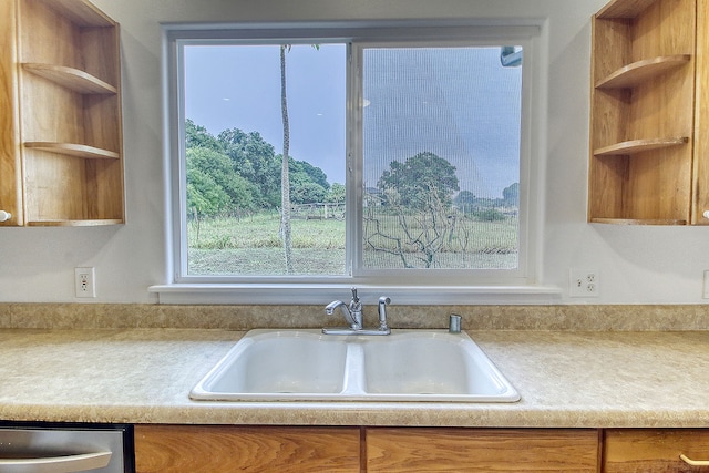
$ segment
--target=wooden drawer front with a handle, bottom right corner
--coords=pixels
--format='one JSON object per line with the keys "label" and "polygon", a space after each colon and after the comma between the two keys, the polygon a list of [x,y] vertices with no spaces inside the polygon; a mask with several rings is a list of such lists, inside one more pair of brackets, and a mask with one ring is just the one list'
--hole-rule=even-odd
{"label": "wooden drawer front with a handle, bottom right corner", "polygon": [[709,460],[709,430],[608,430],[603,451],[604,472],[709,472],[680,459]]}

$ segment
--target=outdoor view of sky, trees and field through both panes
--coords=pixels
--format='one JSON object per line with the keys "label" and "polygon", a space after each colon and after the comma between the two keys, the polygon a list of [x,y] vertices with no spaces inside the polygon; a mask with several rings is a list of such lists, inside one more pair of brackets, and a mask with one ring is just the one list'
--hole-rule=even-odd
{"label": "outdoor view of sky, trees and field through both panes", "polygon": [[356,267],[516,268],[522,68],[500,54],[366,48],[348,119],[345,44],[185,45],[188,274],[342,276],[348,225]]}

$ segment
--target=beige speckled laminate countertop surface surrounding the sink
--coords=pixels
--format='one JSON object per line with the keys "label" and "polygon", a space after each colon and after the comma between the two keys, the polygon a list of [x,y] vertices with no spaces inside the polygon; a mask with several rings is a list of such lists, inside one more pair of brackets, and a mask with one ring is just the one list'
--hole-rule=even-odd
{"label": "beige speckled laminate countertop surface surrounding the sink", "polygon": [[244,335],[0,330],[0,419],[185,424],[709,426],[709,332],[469,331],[516,403],[213,403],[192,387]]}

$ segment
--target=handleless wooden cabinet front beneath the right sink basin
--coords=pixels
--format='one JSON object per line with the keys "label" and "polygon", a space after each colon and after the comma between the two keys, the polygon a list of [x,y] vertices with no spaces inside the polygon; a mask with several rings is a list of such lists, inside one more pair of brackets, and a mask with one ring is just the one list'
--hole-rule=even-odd
{"label": "handleless wooden cabinet front beneath the right sink basin", "polygon": [[596,430],[367,429],[368,472],[597,472]]}

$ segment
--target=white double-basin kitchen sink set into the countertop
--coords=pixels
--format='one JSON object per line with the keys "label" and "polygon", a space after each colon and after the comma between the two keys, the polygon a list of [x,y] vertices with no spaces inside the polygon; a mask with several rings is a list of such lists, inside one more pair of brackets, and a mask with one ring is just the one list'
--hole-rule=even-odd
{"label": "white double-basin kitchen sink set into the countertop", "polygon": [[202,401],[515,402],[520,394],[466,333],[331,336],[251,330],[189,397]]}

